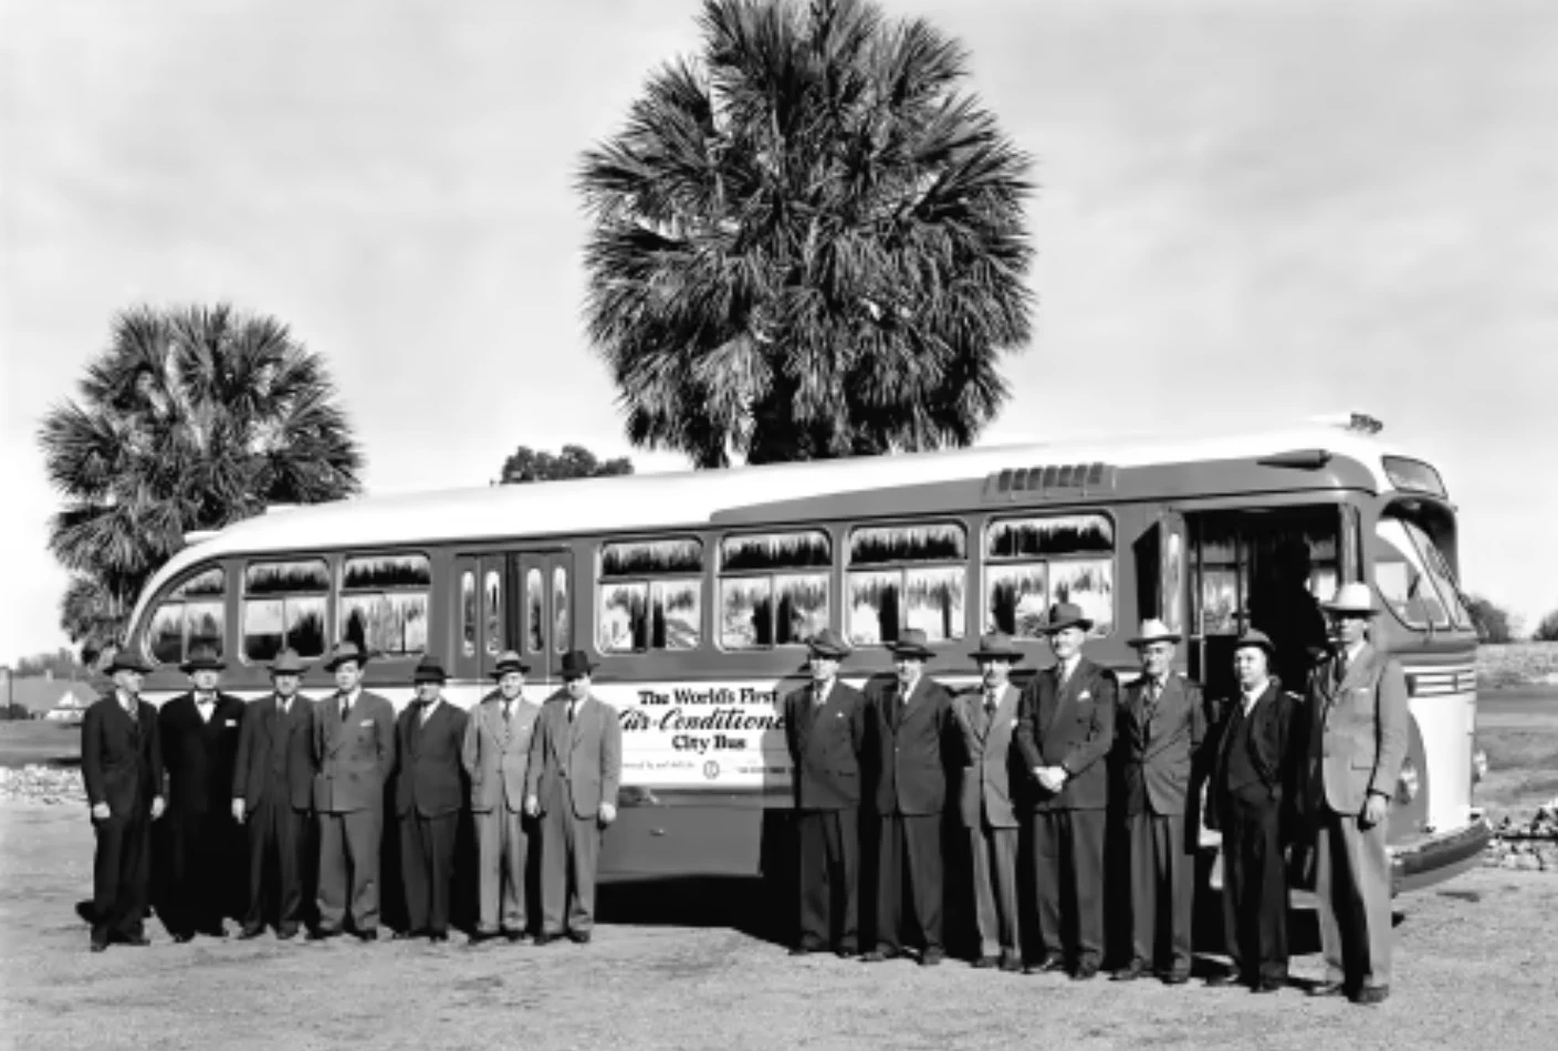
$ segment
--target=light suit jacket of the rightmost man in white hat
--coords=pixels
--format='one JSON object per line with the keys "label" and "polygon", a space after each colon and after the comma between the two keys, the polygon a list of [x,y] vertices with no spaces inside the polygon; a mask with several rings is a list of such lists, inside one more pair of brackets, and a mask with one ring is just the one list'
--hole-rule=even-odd
{"label": "light suit jacket of the rightmost man in white hat", "polygon": [[1371,791],[1393,797],[1412,731],[1401,664],[1365,642],[1337,683],[1335,661],[1309,678],[1301,798],[1310,814],[1320,803],[1359,814]]}

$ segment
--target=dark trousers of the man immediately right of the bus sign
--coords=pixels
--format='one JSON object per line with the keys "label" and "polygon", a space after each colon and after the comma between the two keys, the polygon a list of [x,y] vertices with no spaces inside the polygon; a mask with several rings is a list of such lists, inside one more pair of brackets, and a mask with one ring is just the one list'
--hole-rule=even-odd
{"label": "dark trousers of the man immediately right of the bus sign", "polygon": [[801,948],[860,948],[860,816],[857,811],[799,811]]}

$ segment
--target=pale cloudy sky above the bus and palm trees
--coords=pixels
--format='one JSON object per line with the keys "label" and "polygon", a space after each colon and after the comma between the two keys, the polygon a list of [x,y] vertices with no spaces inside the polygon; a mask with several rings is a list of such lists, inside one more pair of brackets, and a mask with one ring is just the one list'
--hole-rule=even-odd
{"label": "pale cloudy sky above the bus and palm trees", "polygon": [[[1036,159],[1033,341],[983,441],[1360,409],[1443,471],[1461,575],[1558,608],[1550,0],[887,0]],[[323,354],[372,493],[629,449],[581,323],[580,153],[695,0],[0,0],[0,661],[65,644],[36,433],[117,310]]]}

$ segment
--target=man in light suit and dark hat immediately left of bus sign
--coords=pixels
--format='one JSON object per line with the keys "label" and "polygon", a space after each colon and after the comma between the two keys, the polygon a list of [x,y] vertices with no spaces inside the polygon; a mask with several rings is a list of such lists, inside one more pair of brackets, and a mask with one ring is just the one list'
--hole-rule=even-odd
{"label": "man in light suit and dark hat immediately left of bus sign", "polygon": [[562,655],[566,695],[547,702],[530,739],[525,812],[542,819],[536,945],[555,942],[564,931],[583,945],[595,928],[601,831],[617,820],[622,725],[617,710],[590,694],[594,671],[584,650]]}

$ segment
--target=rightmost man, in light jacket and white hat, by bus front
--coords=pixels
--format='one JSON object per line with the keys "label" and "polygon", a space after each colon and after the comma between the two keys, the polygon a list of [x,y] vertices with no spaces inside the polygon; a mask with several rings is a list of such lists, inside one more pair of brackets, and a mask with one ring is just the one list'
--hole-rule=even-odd
{"label": "rightmost man, in light jacket and white hat, by bus front", "polygon": [[1326,979],[1310,990],[1359,1004],[1390,995],[1390,800],[1407,756],[1401,666],[1368,641],[1379,613],[1366,583],[1324,603],[1337,652],[1309,677],[1304,814],[1315,834],[1315,897]]}

